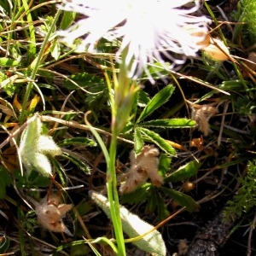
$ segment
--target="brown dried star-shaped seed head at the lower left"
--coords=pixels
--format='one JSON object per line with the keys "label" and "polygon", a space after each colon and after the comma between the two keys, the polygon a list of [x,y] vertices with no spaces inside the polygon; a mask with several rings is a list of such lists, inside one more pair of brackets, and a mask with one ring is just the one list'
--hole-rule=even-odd
{"label": "brown dried star-shaped seed head at the lower left", "polygon": [[60,197],[58,195],[49,195],[49,198],[46,195],[38,203],[35,212],[38,215],[39,224],[44,229],[73,236],[62,221],[62,218],[72,207],[72,205],[60,204]]}

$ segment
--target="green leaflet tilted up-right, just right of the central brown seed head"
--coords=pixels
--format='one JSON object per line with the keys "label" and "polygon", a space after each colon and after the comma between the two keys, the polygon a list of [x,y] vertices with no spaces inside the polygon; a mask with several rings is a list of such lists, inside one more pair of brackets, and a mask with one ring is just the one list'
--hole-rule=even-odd
{"label": "green leaflet tilted up-right, just right of the central brown seed head", "polygon": [[177,171],[172,172],[171,175],[165,178],[166,183],[170,182],[177,182],[183,181],[186,178],[194,176],[198,169],[200,168],[201,164],[198,163],[196,160],[190,161],[184,166],[180,166]]}

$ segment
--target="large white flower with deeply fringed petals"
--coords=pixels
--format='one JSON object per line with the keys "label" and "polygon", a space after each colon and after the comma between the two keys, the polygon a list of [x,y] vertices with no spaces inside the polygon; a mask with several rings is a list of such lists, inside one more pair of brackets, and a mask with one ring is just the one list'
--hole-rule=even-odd
{"label": "large white flower with deeply fringed petals", "polygon": [[79,49],[89,52],[101,38],[120,39],[116,57],[120,61],[125,50],[129,77],[137,79],[145,71],[152,79],[148,64],[160,62],[166,67],[163,58],[168,58],[172,61],[168,68],[173,68],[201,49],[210,20],[190,15],[199,7],[198,0],[65,0],[61,9],[85,18],[60,34],[67,44],[86,34]]}

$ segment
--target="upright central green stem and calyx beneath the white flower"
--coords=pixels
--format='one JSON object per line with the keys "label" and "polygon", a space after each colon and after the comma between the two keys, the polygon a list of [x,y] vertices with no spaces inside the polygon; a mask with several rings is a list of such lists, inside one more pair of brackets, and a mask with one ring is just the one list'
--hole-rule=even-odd
{"label": "upright central green stem and calyx beneath the white flower", "polygon": [[[110,204],[110,213],[113,221],[113,228],[118,244],[118,250],[120,256],[125,256],[125,241],[122,228],[122,221],[120,218],[119,210],[119,195],[117,190],[117,181],[115,173],[115,160],[117,150],[117,138],[119,133],[124,129],[128,120],[130,119],[131,108],[134,102],[134,98],[137,94],[138,86],[136,83],[132,84],[131,79],[128,76],[127,70],[129,68],[125,65],[125,57],[127,49],[123,52],[122,62],[119,66],[119,76],[113,73],[113,89],[111,82],[106,74],[109,98],[111,102],[112,110],[112,137],[109,148],[109,161],[107,171],[107,189],[108,189],[108,201]],[[114,70],[114,68],[113,68]],[[114,91],[114,95],[113,95]]]}

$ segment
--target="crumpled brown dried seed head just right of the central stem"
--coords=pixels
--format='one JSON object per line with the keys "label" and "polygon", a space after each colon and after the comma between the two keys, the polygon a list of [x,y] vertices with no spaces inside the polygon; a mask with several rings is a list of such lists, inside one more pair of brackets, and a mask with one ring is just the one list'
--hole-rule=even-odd
{"label": "crumpled brown dried seed head just right of the central stem", "polygon": [[125,173],[125,183],[120,186],[119,191],[130,193],[145,183],[148,177],[154,185],[160,186],[163,183],[163,178],[158,173],[159,154],[158,148],[148,145],[144,146],[142,152],[137,156],[134,150],[131,150],[131,168],[129,172]]}

